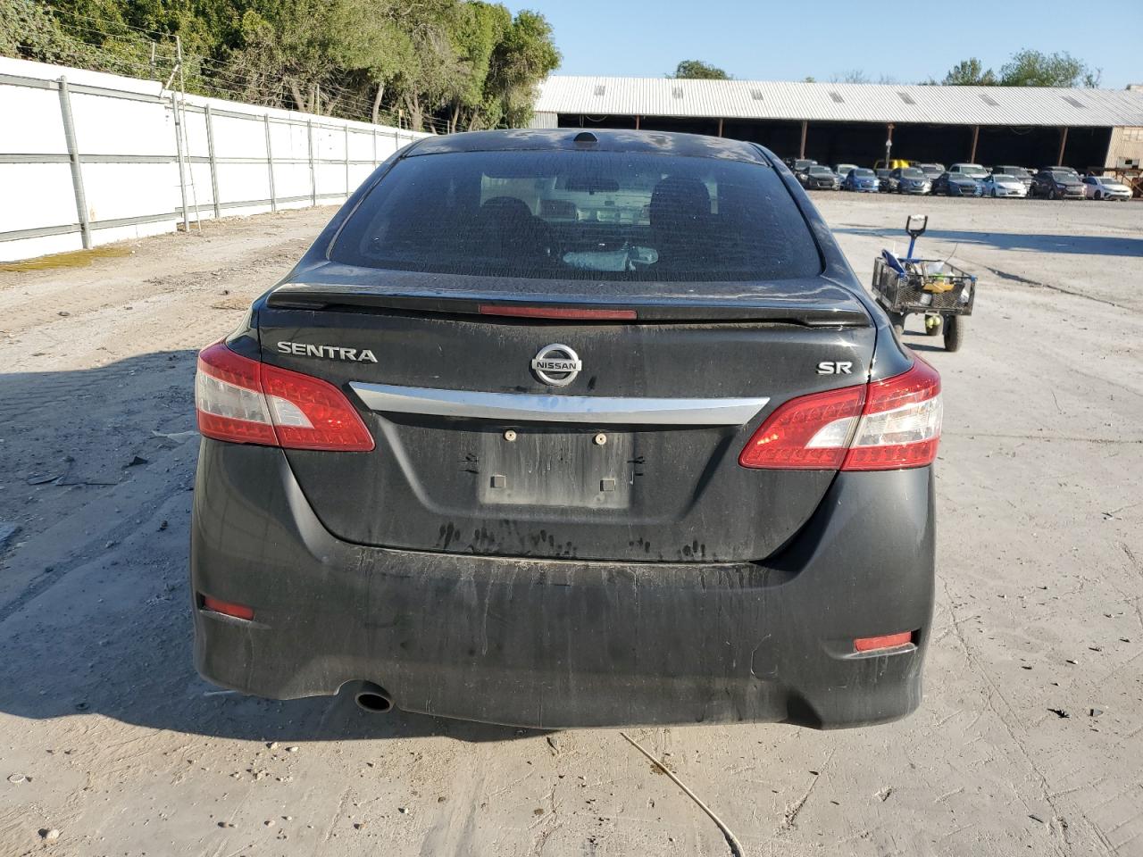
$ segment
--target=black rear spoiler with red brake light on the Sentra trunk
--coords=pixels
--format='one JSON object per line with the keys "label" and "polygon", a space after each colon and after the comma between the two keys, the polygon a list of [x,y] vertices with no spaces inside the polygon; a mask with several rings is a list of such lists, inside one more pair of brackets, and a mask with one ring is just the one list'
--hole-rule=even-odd
{"label": "black rear spoiler with red brake light on the Sentra trunk", "polygon": [[559,299],[552,295],[517,296],[504,301],[450,291],[447,295],[382,291],[361,286],[285,283],[266,298],[275,309],[390,310],[445,315],[481,315],[534,321],[614,323],[769,322],[807,327],[869,327],[865,309],[854,298],[848,306],[798,299],[634,298],[623,303]]}

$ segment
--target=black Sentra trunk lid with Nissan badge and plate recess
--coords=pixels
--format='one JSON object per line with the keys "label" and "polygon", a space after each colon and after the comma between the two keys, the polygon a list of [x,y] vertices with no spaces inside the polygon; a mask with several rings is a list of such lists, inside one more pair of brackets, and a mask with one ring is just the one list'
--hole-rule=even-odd
{"label": "black Sentra trunk lid with Nissan badge and plate recess", "polygon": [[[777,406],[866,379],[874,329],[852,291],[490,279],[327,264],[261,307],[263,360],[338,385],[376,439],[371,452],[286,452],[336,536],[729,562],[774,553],[817,507],[833,472],[737,458]],[[551,317],[590,310],[624,314]],[[552,346],[572,362],[545,381],[535,361]]]}

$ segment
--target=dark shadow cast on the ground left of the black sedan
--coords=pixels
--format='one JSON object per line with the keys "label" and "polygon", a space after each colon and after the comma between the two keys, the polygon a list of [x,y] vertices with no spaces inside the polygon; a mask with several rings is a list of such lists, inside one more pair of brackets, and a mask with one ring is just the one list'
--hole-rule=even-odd
{"label": "dark shadow cast on the ground left of the black sedan", "polygon": [[186,570],[194,363],[195,352],[173,351],[0,374],[0,521],[23,526],[0,546],[0,713],[266,742],[543,734],[367,713],[352,687],[279,702],[198,676]]}

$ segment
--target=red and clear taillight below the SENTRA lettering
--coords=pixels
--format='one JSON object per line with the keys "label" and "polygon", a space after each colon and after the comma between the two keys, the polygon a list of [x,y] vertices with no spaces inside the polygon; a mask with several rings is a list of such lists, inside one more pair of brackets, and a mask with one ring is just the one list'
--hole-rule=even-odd
{"label": "red and clear taillight below the SENTRA lettering", "polygon": [[223,342],[199,353],[194,407],[203,436],[286,449],[368,451],[373,435],[328,382],[234,353]]}

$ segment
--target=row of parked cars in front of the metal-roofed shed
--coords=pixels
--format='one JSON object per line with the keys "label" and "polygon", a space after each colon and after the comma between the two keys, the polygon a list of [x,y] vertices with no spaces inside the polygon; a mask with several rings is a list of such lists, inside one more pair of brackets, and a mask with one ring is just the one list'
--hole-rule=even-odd
{"label": "row of parked cars in front of the metal-roofed shed", "polygon": [[946,197],[1041,198],[1126,200],[1132,190],[1116,176],[1080,176],[1071,167],[1041,167],[1038,170],[1014,165],[985,168],[980,163],[909,163],[873,169],[855,163],[828,167],[808,158],[786,158],[785,163],[801,183],[814,191],[856,191],[861,193],[944,194]]}

